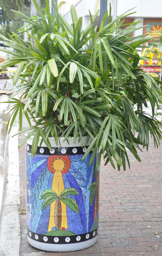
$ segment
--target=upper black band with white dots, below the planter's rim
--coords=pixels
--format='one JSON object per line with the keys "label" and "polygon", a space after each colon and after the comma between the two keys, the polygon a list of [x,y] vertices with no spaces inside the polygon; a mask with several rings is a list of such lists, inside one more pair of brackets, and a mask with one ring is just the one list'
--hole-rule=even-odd
{"label": "upper black band with white dots, below the planter's rim", "polygon": [[[40,155],[83,155],[85,154],[88,146],[86,147],[52,147],[52,150],[49,150],[47,147],[38,147],[36,154]],[[26,151],[31,153],[31,145],[26,145]],[[93,148],[90,153],[93,152]]]}

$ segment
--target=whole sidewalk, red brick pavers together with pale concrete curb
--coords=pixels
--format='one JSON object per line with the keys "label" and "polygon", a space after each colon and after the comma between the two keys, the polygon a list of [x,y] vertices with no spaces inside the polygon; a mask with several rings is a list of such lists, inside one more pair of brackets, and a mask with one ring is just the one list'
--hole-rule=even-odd
{"label": "whole sidewalk, red brick pavers together with pale concrete curb", "polygon": [[[8,80],[9,81],[9,80]],[[23,128],[27,124],[23,123]],[[18,121],[15,124],[15,134]],[[162,255],[162,145],[139,152],[139,163],[128,151],[131,168],[118,172],[110,164],[100,167],[99,237],[90,248],[66,253],[35,249],[27,242],[25,216],[24,134],[8,135],[0,215],[0,256],[161,256]]]}

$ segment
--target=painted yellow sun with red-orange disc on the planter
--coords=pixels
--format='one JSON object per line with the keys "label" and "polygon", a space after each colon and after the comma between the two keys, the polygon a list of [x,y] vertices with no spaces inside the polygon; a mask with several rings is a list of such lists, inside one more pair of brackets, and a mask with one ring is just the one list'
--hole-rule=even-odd
{"label": "painted yellow sun with red-orange disc on the planter", "polygon": [[47,165],[52,174],[56,171],[65,174],[70,168],[70,159],[68,156],[49,156]]}

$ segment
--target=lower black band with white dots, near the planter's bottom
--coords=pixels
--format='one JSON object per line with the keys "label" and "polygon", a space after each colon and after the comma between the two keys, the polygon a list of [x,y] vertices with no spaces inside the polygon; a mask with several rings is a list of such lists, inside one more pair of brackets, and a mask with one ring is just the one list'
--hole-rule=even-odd
{"label": "lower black band with white dots, near the planter's bottom", "polygon": [[98,228],[85,234],[73,235],[73,236],[47,236],[34,233],[27,229],[27,235],[35,240],[42,243],[53,243],[53,244],[66,244],[66,243],[77,243],[90,240],[97,236]]}

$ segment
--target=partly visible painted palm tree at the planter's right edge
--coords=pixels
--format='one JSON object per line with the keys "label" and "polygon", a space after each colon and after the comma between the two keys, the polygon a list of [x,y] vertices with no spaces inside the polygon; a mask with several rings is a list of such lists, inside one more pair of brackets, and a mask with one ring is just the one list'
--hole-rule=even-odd
{"label": "partly visible painted palm tree at the planter's right edge", "polygon": [[100,171],[99,171],[99,169],[97,168],[97,165],[96,165],[96,167],[94,169],[94,178],[96,177],[96,181],[94,181],[89,187],[89,190],[92,192],[90,194],[90,205],[91,206],[92,206],[94,198],[96,196],[95,207],[94,207],[94,209],[95,209],[94,210],[94,219],[96,218],[98,208],[99,208],[99,206],[98,206],[98,202],[99,202],[99,200],[98,200],[98,197],[99,197],[99,173],[100,173]]}

